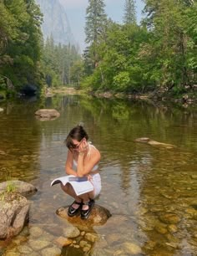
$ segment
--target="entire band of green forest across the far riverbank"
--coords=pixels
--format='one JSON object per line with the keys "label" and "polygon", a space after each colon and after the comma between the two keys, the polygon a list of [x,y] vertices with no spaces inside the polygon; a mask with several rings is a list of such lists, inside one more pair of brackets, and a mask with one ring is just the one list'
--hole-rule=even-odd
{"label": "entire band of green forest across the far riverbank", "polygon": [[197,3],[194,0],[125,0],[122,23],[105,13],[104,0],[88,0],[86,49],[43,40],[43,15],[34,0],[0,0],[0,94],[27,85],[89,92],[171,96],[197,84]]}

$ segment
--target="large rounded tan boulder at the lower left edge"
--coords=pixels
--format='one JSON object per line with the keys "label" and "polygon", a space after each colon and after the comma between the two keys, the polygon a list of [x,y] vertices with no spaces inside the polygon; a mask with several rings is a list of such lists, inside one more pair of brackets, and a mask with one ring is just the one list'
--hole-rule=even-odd
{"label": "large rounded tan boulder at the lower left edge", "polygon": [[0,239],[20,233],[28,221],[30,202],[18,193],[5,193],[0,197]]}

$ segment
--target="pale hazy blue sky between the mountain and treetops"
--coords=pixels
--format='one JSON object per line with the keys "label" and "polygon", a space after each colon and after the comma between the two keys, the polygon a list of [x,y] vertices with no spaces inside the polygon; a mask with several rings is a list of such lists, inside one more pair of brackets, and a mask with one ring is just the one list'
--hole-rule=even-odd
{"label": "pale hazy blue sky between the mountain and treetops", "polygon": [[[79,44],[80,49],[83,51],[85,48],[85,16],[86,8],[88,7],[88,0],[59,0],[66,10],[68,21],[75,41]],[[122,23],[124,16],[124,0],[104,0],[105,12],[108,17],[114,22]],[[144,3],[142,0],[136,0],[136,13],[138,23],[142,18],[142,10]]]}

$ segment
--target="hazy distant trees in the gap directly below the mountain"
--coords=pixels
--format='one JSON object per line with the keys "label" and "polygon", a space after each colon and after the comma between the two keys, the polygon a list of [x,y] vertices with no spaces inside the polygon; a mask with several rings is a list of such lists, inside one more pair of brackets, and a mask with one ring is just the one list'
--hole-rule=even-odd
{"label": "hazy distant trees in the gap directly below the mountain", "polygon": [[[58,87],[80,84],[82,67],[80,55],[73,45],[55,45],[53,38],[47,38],[43,44],[42,68],[45,83]],[[74,72],[77,72],[74,74]]]}

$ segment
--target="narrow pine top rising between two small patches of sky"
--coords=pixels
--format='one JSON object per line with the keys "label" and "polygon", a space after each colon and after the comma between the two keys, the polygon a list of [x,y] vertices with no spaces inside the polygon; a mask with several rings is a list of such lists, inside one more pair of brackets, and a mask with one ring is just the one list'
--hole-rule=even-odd
{"label": "narrow pine top rising between two small patches of sky", "polygon": [[135,1],[126,0],[124,5],[124,23],[136,23]]}

